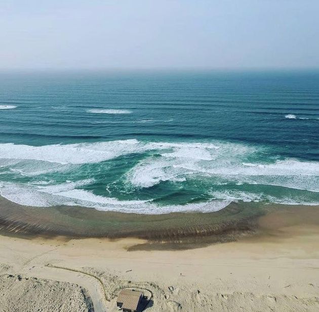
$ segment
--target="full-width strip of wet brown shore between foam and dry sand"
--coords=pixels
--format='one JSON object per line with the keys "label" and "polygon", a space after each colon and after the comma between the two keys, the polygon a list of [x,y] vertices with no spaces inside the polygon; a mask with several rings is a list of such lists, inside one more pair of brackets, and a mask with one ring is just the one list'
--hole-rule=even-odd
{"label": "full-width strip of wet brown shore between foam and dry sand", "polygon": [[317,225],[316,220],[319,206],[233,202],[215,212],[142,215],[79,206],[28,207],[0,197],[1,235],[146,241],[130,250],[192,249],[246,236],[271,236],[283,225]]}

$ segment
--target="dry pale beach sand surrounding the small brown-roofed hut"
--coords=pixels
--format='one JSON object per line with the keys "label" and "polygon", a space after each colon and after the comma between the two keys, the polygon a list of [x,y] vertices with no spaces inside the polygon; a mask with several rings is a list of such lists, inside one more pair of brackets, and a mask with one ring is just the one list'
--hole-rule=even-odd
{"label": "dry pale beach sand surrounding the small brown-roofed hut", "polygon": [[[314,217],[316,220],[312,222]],[[3,266],[0,274],[69,282],[74,288],[77,287],[74,284],[79,285],[90,294],[95,311],[116,311],[115,298],[119,289],[135,287],[144,289],[149,296],[152,293],[146,308],[149,312],[317,312],[317,211],[313,215],[310,213],[303,224],[295,220],[296,217],[287,214],[273,213],[260,219],[265,234],[175,251],[127,251],[143,243],[128,238],[117,241],[65,240],[62,237],[30,240],[1,236],[0,263]],[[0,296],[10,297],[8,291],[2,288]],[[39,296],[38,292],[30,292],[35,298]],[[70,299],[69,311],[78,311],[72,309],[76,306],[74,300],[79,299],[75,295]],[[36,311],[24,309],[21,297],[16,306],[17,311]],[[8,311],[3,306],[0,310]],[[43,311],[57,309],[46,301]]]}

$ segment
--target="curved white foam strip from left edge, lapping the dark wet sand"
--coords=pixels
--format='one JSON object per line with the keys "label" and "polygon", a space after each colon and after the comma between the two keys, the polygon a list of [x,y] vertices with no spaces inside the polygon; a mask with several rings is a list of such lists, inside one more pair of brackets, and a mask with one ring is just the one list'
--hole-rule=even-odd
{"label": "curved white foam strip from left edge, lapping the dark wet sand", "polygon": [[[212,201],[188,205],[158,206],[149,201],[129,200],[121,201],[116,198],[94,195],[85,190],[71,189],[76,184],[58,185],[56,189],[50,187],[35,187],[13,183],[0,183],[0,194],[15,203],[34,206],[52,207],[59,205],[92,207],[104,211],[120,211],[126,213],[163,214],[182,211],[218,211],[229,205],[230,201]],[[55,192],[57,191],[57,192]]]}

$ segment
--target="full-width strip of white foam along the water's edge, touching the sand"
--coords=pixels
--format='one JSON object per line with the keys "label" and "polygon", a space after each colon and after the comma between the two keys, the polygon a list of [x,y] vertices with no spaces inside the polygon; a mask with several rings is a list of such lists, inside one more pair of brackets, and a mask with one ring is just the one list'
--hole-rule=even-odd
{"label": "full-width strip of white foam along the water's edge, touching the sand", "polygon": [[187,205],[160,206],[151,201],[127,200],[94,195],[81,189],[79,184],[58,185],[55,189],[50,187],[36,187],[13,183],[0,183],[0,195],[18,204],[34,207],[52,207],[59,205],[91,207],[104,211],[119,211],[125,213],[163,214],[171,212],[201,211],[213,212],[228,206],[233,201],[270,201],[281,204],[317,205],[317,202],[291,198],[276,198],[264,194],[253,194],[241,191],[225,191],[212,193],[215,198],[209,202],[192,203]]}

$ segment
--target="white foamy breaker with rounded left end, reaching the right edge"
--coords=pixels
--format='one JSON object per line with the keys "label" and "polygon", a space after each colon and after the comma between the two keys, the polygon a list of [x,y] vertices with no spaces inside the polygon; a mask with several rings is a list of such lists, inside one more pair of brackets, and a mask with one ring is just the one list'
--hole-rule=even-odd
{"label": "white foamy breaker with rounded left end, reaching the right edge", "polygon": [[[233,159],[234,160],[234,159]],[[241,184],[282,186],[291,189],[319,192],[319,164],[297,160],[276,161],[273,164],[245,166],[240,163],[213,160],[196,162],[192,159],[148,159],[132,168],[127,179],[137,187],[151,187],[161,181],[204,178]],[[217,183],[218,185],[225,183]]]}

